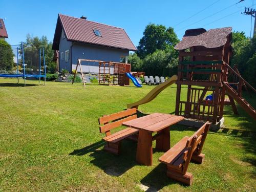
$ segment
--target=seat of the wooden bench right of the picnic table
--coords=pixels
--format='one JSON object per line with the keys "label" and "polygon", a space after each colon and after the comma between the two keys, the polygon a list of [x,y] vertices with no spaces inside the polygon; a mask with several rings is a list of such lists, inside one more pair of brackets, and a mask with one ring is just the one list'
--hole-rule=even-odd
{"label": "seat of the wooden bench right of the picnic table", "polygon": [[176,143],[172,148],[165,152],[159,161],[165,164],[173,164],[183,153],[186,151],[185,146],[187,139],[189,137],[183,137],[178,143]]}

